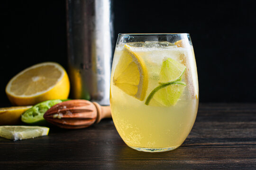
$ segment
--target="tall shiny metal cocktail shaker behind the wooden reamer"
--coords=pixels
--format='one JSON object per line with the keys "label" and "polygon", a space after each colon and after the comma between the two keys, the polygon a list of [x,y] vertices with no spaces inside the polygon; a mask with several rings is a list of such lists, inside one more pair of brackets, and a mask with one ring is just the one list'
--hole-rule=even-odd
{"label": "tall shiny metal cocktail shaker behind the wooden reamer", "polygon": [[71,95],[109,105],[113,50],[111,0],[67,0]]}

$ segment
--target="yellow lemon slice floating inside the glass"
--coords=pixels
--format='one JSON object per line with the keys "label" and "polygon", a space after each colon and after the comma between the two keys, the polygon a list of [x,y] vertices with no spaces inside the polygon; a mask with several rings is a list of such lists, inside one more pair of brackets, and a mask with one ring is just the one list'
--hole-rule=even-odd
{"label": "yellow lemon slice floating inside the glass", "polygon": [[148,85],[146,65],[129,45],[124,45],[113,76],[113,84],[140,101],[145,98]]}

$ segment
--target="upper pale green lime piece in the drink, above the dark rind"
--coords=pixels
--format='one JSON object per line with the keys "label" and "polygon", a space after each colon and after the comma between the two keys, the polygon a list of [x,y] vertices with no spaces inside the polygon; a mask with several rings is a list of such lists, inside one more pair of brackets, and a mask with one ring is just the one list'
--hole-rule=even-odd
{"label": "upper pale green lime piece in the drink, above the dark rind", "polygon": [[159,83],[165,84],[177,81],[185,72],[186,67],[174,59],[165,59],[159,75]]}

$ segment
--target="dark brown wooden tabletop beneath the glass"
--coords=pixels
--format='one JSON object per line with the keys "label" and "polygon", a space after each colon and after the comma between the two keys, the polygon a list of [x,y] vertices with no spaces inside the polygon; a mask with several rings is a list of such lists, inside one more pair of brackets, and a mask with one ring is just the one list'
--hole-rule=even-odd
{"label": "dark brown wooden tabletop beneath the glass", "polygon": [[111,119],[79,130],[51,127],[49,136],[0,138],[0,170],[256,170],[256,103],[200,103],[194,127],[173,151],[138,152]]}

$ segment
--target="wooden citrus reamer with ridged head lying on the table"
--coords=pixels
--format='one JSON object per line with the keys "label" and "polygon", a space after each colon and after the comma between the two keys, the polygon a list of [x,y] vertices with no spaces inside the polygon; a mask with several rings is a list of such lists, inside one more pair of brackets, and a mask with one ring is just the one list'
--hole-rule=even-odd
{"label": "wooden citrus reamer with ridged head lying on the table", "polygon": [[44,119],[62,128],[84,128],[101,119],[111,118],[110,106],[101,106],[87,100],[70,100],[58,103],[44,114]]}

